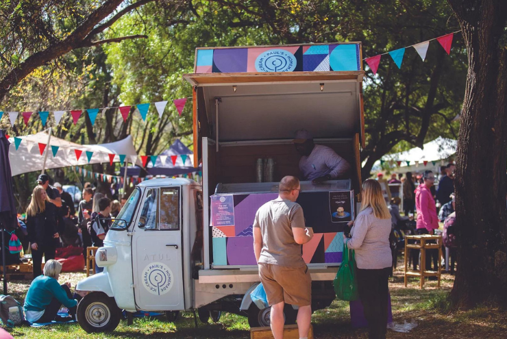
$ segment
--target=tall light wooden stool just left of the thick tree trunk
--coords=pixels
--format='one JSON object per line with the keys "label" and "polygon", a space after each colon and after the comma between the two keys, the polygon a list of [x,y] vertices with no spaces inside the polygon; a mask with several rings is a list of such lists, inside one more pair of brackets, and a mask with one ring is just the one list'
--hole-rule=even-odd
{"label": "tall light wooden stool just left of the thick tree trunk", "polygon": [[[419,241],[419,244],[409,244],[408,240]],[[428,243],[430,241],[436,241],[434,243]],[[421,262],[419,262],[419,271],[408,270],[408,253],[410,250],[419,249],[421,250]],[[426,250],[427,249],[438,249],[438,269],[437,271],[426,271]],[[437,277],[438,287],[440,287],[441,277],[441,258],[442,258],[442,236],[430,236],[429,234],[422,234],[420,236],[405,236],[405,287],[407,287],[408,277],[419,277],[420,288],[424,286],[425,277]]]}

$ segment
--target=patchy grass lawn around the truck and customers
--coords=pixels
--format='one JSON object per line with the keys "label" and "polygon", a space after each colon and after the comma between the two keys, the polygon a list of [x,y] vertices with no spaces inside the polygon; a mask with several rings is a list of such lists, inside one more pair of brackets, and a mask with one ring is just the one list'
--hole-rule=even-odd
{"label": "patchy grass lawn around the truck and customers", "polygon": [[[63,273],[60,282],[71,281],[73,286],[84,278],[84,273]],[[393,319],[395,323],[417,322],[410,333],[388,331],[388,338],[507,338],[507,314],[500,310],[478,307],[467,312],[449,313],[445,297],[452,288],[454,277],[443,275],[441,288],[436,281],[428,281],[423,290],[419,280],[410,279],[408,288],[403,284],[400,265],[389,281]],[[9,293],[23,301],[29,281],[10,281]],[[349,304],[334,301],[312,316],[315,338],[367,338],[364,329],[351,327]],[[121,321],[112,334],[87,334],[77,324],[54,325],[42,328],[16,327],[10,330],[16,338],[250,338],[247,318],[223,313],[219,323],[194,325],[193,313],[184,312],[175,323],[164,316],[158,318],[134,318],[127,326]]]}

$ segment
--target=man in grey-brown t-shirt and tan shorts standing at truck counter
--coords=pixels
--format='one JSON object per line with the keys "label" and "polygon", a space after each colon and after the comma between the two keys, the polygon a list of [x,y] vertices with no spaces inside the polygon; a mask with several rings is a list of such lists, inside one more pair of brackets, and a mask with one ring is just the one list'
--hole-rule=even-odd
{"label": "man in grey-brown t-shirt and tan shorts standing at truck counter", "polygon": [[307,338],[312,316],[312,279],[301,258],[301,245],[313,237],[305,227],[303,209],[296,203],[301,186],[296,177],[284,177],[278,198],[264,203],[253,221],[253,250],[259,277],[271,305],[271,331],[284,337],[284,305],[298,305],[299,338]]}

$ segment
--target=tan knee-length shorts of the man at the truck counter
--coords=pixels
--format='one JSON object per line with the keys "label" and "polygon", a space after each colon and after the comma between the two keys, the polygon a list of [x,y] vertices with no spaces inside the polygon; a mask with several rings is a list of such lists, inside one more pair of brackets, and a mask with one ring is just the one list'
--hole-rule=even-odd
{"label": "tan knee-length shorts of the man at the truck counter", "polygon": [[259,277],[269,305],[284,301],[290,305],[312,304],[312,277],[308,267],[286,267],[259,263]]}

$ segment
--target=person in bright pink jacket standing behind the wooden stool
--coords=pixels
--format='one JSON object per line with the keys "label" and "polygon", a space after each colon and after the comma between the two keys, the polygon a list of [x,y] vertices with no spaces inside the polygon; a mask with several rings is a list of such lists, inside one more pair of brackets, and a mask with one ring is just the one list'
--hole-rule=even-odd
{"label": "person in bright pink jacket standing behind the wooden stool", "polygon": [[[417,210],[417,234],[434,234],[438,229],[438,216],[436,215],[435,200],[430,188],[433,186],[435,176],[432,171],[424,171],[423,183],[415,190],[415,208]],[[428,249],[427,255],[432,258],[426,260],[426,270],[431,269],[433,261],[434,271],[438,270],[438,250]]]}

